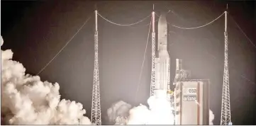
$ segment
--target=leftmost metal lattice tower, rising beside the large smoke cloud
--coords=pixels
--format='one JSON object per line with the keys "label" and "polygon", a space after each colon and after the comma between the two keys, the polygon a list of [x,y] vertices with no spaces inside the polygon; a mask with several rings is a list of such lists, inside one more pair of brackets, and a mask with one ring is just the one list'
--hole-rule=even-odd
{"label": "leftmost metal lattice tower, rising beside the large smoke cloud", "polygon": [[99,62],[98,62],[98,25],[97,11],[95,11],[94,33],[94,84],[92,87],[91,124],[101,125],[101,97],[99,93]]}

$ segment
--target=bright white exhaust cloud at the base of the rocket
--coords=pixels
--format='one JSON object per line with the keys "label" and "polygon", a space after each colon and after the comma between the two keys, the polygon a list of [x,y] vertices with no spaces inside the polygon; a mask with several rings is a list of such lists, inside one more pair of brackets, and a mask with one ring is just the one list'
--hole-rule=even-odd
{"label": "bright white exhaust cloud at the base of the rocket", "polygon": [[[140,104],[130,109],[129,116],[121,115],[122,112],[128,113],[128,110],[114,108],[118,106],[118,103],[108,109],[108,117],[110,120],[116,117],[116,125],[174,125],[172,108],[167,98],[151,96],[148,99],[150,108]],[[125,103],[123,105],[128,106],[129,104]]]}

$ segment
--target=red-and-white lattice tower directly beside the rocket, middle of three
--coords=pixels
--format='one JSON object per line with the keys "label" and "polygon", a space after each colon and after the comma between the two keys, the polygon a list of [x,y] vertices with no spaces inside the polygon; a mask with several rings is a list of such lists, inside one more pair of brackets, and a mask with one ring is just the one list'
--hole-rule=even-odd
{"label": "red-and-white lattice tower directly beside the rocket, middle of three", "polygon": [[154,96],[155,90],[155,12],[152,12],[152,62],[151,62],[151,83],[150,96]]}

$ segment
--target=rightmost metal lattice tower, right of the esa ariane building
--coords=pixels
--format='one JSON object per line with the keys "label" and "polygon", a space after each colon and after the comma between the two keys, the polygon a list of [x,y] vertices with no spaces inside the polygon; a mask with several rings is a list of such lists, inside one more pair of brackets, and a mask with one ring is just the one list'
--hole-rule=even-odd
{"label": "rightmost metal lattice tower, right of the esa ariane building", "polygon": [[225,11],[225,59],[223,73],[223,92],[221,105],[221,125],[230,125],[230,93],[229,93],[229,75],[228,75],[228,33],[227,33],[227,11]]}

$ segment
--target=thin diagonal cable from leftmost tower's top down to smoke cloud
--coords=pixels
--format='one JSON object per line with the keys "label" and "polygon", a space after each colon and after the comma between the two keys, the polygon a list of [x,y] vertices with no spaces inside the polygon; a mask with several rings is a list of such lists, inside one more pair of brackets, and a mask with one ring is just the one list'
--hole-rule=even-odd
{"label": "thin diagonal cable from leftmost tower's top down to smoke cloud", "polygon": [[[77,30],[77,33],[79,33],[79,31],[84,27],[84,25],[89,21],[90,18],[91,18],[91,17],[87,18],[87,20],[84,22],[84,24]],[[48,65],[49,65],[58,55],[60,55],[60,52],[62,52],[62,50],[64,50],[64,48],[69,44],[69,42],[71,42],[71,40],[74,38],[75,35],[77,35],[77,33],[75,33],[75,34],[72,36],[72,38],[71,38],[69,41],[67,41],[67,43],[62,47],[62,49],[60,49],[60,51],[57,52],[57,54],[56,54],[54,57],[52,57],[52,59],[50,59],[50,61],[45,65],[45,67],[43,67],[43,68],[38,72],[38,74],[40,74],[43,70],[45,70],[45,68],[48,67]],[[36,75],[38,75],[38,74],[36,74]]]}

